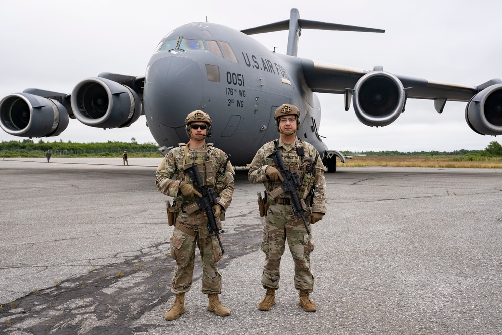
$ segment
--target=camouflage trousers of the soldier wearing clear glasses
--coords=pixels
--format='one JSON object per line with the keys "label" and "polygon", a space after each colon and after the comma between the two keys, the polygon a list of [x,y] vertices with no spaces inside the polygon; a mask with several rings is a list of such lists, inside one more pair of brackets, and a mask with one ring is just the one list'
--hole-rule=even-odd
{"label": "camouflage trousers of the soldier wearing clear glasses", "polygon": [[[306,215],[307,222],[308,218]],[[309,229],[312,231],[312,225],[309,225]],[[262,285],[264,288],[279,288],[279,265],[286,240],[295,265],[295,288],[311,293],[314,288],[314,274],[310,269],[310,253],[314,250],[314,241],[312,235],[307,234],[302,218],[293,214],[291,205],[271,205],[265,218]]]}

